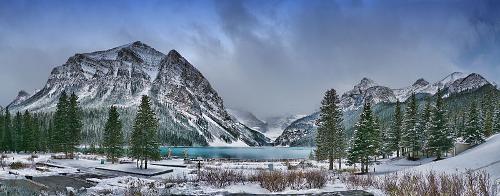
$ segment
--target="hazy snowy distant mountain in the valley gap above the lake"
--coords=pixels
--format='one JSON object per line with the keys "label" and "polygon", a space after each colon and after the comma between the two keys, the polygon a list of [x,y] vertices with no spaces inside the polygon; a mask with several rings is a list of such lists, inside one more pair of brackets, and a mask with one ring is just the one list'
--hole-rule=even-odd
{"label": "hazy snowy distant mountain in the valley gap above the lake", "polygon": [[239,121],[254,130],[260,131],[271,140],[279,137],[292,122],[305,116],[284,115],[269,117],[263,121],[248,111],[238,109],[227,109],[227,111],[234,120]]}

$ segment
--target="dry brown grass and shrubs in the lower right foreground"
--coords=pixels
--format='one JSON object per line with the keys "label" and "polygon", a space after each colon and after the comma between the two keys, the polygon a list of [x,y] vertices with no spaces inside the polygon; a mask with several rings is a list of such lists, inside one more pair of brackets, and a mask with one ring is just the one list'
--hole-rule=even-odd
{"label": "dry brown grass and shrubs in the lower right foreground", "polygon": [[391,196],[487,196],[492,193],[489,175],[484,171],[466,174],[406,172],[379,177],[344,175],[340,179],[349,189],[376,188]]}

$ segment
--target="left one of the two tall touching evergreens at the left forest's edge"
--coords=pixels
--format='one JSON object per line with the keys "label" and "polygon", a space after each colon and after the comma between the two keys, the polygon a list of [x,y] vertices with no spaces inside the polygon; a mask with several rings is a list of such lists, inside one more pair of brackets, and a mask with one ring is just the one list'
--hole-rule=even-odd
{"label": "left one of the two tall touching evergreens at the left forest's edge", "polygon": [[[69,101],[68,101],[68,95],[66,92],[62,92],[61,96],[59,97],[59,102],[57,103],[56,106],[56,112],[54,114],[54,127],[52,129],[51,133],[51,138],[50,138],[50,143],[52,147],[53,152],[65,152],[67,153],[68,150],[66,149],[67,146],[67,130],[68,130],[68,107],[69,107]],[[67,155],[67,154],[66,154]]]}

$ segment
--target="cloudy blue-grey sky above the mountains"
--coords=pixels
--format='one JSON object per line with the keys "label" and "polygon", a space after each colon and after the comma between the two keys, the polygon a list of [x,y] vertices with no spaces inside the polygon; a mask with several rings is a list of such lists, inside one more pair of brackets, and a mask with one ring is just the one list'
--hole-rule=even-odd
{"label": "cloudy blue-grey sky above the mountains", "polygon": [[75,53],[140,40],[178,50],[224,99],[302,113],[362,77],[397,88],[453,71],[499,82],[494,1],[0,1],[0,105]]}

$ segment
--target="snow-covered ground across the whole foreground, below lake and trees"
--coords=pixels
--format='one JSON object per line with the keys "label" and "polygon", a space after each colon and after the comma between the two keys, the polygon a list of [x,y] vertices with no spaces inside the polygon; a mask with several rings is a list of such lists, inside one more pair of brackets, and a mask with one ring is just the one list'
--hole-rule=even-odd
{"label": "snow-covered ground across the whole foreground, below lake and trees", "polygon": [[[486,140],[485,143],[465,151],[456,157],[447,158],[433,162],[434,158],[424,158],[419,161],[409,161],[404,158],[391,158],[378,160],[378,164],[371,166],[370,171],[375,176],[383,177],[386,174],[394,172],[420,172],[425,173],[434,171],[437,173],[464,173],[468,169],[473,171],[486,171],[490,175],[490,180],[495,183],[500,178],[500,135],[494,135]],[[103,167],[122,171],[139,171],[135,168],[135,163],[111,164],[106,162],[101,164],[102,156],[98,155],[79,155],[78,160],[51,159],[49,154],[38,155],[35,162],[48,163],[50,165],[62,166],[63,168],[50,166],[35,166],[29,158],[31,155],[9,154],[4,160],[4,165],[13,162],[22,162],[27,165],[22,169],[10,169],[4,167],[0,171],[0,180],[19,179],[25,175],[29,176],[52,176],[61,173],[81,174],[97,172],[95,168]],[[124,158],[123,160],[126,160]],[[235,182],[224,187],[216,187],[204,181],[198,181],[197,162],[185,163],[182,159],[153,161],[150,165],[150,171],[172,169],[173,172],[161,174],[152,177],[141,175],[130,175],[126,173],[113,172],[105,178],[89,178],[88,181],[96,183],[92,188],[87,189],[89,195],[101,195],[111,193],[113,195],[131,194],[141,192],[145,195],[157,194],[186,194],[199,195],[209,194],[217,195],[224,193],[249,193],[249,194],[310,194],[321,192],[346,191],[353,189],[340,179],[336,174],[328,172],[327,162],[317,162],[310,160],[284,161],[229,161],[229,160],[206,160],[202,163],[201,171],[225,170],[234,171],[242,175],[252,176],[261,171],[268,171],[270,167],[274,171],[322,171],[328,176],[328,181],[323,188],[285,188],[279,192],[271,192],[263,188],[257,181]],[[168,165],[177,165],[181,167],[169,167]],[[271,166],[272,165],[272,166]],[[38,167],[38,169],[37,169]],[[337,164],[335,164],[337,167]],[[359,167],[359,166],[358,166]],[[342,164],[342,168],[352,170],[352,166]],[[375,172],[373,172],[373,169]],[[9,173],[10,172],[10,173]],[[105,172],[104,172],[105,173]],[[103,174],[103,173],[100,173]],[[359,188],[359,187],[358,187]],[[381,190],[374,188],[365,188],[366,191],[375,195],[385,195]]]}

